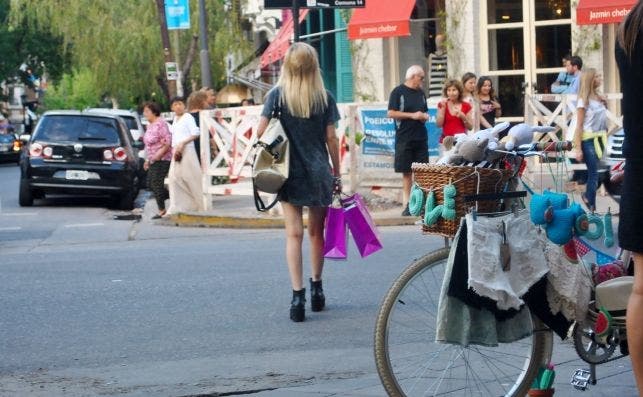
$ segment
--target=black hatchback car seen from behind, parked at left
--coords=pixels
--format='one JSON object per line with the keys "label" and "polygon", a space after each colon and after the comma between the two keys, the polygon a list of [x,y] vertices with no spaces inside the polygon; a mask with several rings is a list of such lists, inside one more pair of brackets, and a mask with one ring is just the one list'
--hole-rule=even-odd
{"label": "black hatchback car seen from behind, parked at left", "polygon": [[132,209],[138,194],[138,148],[118,116],[45,113],[21,155],[21,206],[46,194],[109,195]]}

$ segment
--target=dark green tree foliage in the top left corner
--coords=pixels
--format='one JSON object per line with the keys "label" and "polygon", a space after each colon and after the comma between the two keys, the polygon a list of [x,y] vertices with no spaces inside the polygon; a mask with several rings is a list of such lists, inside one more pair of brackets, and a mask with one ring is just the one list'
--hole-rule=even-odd
{"label": "dark green tree foliage in the top left corner", "polygon": [[16,77],[22,63],[39,76],[46,68],[50,80],[59,80],[70,66],[62,37],[28,24],[25,17],[10,21],[11,6],[0,0],[0,81]]}

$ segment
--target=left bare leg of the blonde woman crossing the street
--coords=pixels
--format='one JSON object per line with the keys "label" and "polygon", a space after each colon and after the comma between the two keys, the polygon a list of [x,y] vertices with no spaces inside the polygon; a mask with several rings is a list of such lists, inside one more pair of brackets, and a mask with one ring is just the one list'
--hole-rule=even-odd
{"label": "left bare leg of the blonde woman crossing the street", "polygon": [[286,224],[286,261],[293,291],[304,288],[302,274],[301,243],[304,236],[302,208],[281,202]]}

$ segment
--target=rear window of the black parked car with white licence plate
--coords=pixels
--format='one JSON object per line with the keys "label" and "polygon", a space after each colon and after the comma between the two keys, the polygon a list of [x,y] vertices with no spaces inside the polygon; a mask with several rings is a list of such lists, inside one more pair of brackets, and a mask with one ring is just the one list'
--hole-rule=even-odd
{"label": "rear window of the black parked car with white licence plate", "polygon": [[34,139],[50,142],[120,143],[116,120],[86,116],[45,116],[38,125]]}

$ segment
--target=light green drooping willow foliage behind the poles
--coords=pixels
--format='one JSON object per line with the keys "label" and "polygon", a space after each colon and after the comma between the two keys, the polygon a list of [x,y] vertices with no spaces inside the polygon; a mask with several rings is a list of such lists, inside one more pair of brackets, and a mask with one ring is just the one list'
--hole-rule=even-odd
{"label": "light green drooping willow foliage behind the poles", "polygon": [[[225,84],[225,57],[230,49],[243,52],[249,47],[240,39],[240,1],[206,1],[212,79],[217,86]],[[191,28],[178,32],[179,66],[191,36],[198,33],[196,0],[190,1],[190,11]],[[61,37],[64,48],[71,49],[73,69],[90,71],[83,73],[89,73],[86,77],[95,87],[97,101],[109,96],[124,106],[163,98],[158,80],[165,77],[164,54],[154,0],[11,0],[10,21]],[[170,31],[171,42],[173,34]],[[200,83],[198,51],[195,58],[192,78]]]}

